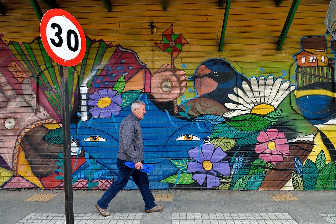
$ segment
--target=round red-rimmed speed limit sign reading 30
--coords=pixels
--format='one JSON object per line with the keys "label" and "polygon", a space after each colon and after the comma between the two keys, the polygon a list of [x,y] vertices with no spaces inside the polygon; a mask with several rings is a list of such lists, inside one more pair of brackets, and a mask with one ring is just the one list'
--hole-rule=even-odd
{"label": "round red-rimmed speed limit sign reading 30", "polygon": [[41,20],[42,44],[49,56],[63,66],[74,66],[82,61],[86,40],[76,18],[62,9],[50,9]]}

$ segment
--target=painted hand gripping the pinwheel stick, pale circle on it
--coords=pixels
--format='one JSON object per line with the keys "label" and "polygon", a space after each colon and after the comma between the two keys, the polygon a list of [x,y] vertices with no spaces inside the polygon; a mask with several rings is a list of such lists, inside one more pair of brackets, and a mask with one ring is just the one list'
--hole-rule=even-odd
{"label": "painted hand gripping the pinwheel stick, pale circle on it", "polygon": [[151,94],[158,102],[173,101],[182,96],[186,84],[183,70],[173,70],[165,64],[152,75]]}

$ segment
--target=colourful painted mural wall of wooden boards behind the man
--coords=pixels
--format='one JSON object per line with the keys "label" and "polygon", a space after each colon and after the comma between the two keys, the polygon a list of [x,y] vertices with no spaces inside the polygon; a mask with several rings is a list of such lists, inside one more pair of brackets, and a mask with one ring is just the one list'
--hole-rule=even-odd
{"label": "colourful painted mural wall of wooden boards behind the man", "polygon": [[[140,124],[153,189],[335,189],[328,1],[302,0],[281,52],[276,41],[291,2],[233,1],[220,53],[218,1],[172,1],[166,11],[159,2],[135,9],[116,1],[113,12],[102,1],[57,2],[87,35],[83,61],[69,67],[74,189],[113,183],[119,126],[134,100],[146,104]],[[59,68],[31,5],[3,3],[0,187],[62,189]],[[127,188],[136,188],[132,180]]]}

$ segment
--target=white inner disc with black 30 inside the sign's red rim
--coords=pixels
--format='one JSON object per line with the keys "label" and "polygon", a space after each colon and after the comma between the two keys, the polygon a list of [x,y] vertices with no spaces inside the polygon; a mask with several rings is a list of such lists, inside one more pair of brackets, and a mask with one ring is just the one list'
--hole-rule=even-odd
{"label": "white inner disc with black 30 inside the sign's red rim", "polygon": [[51,50],[59,58],[72,60],[78,56],[82,41],[75,24],[68,18],[52,17],[47,24],[46,35]]}

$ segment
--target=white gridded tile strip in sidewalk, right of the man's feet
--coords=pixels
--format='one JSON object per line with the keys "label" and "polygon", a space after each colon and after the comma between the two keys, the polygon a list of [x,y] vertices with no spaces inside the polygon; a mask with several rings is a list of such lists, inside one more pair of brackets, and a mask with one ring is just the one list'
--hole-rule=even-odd
{"label": "white gridded tile strip in sidewalk, right of the man's feet", "polygon": [[172,224],[237,224],[283,223],[298,224],[288,213],[173,213]]}

